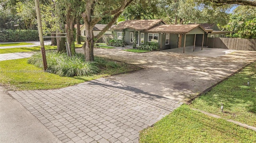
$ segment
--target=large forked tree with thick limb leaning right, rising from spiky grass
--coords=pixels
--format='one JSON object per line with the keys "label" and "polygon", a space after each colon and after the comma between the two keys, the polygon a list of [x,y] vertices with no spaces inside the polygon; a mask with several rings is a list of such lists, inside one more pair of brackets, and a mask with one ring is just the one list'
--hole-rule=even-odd
{"label": "large forked tree with thick limb leaning right, rising from spiky grass", "polygon": [[[94,61],[93,47],[94,41],[97,41],[102,35],[116,22],[124,9],[132,0],[86,0],[86,10],[82,14],[86,29],[86,41],[82,46],[86,61]],[[111,17],[110,22],[103,30],[94,36],[92,29],[102,18]]]}

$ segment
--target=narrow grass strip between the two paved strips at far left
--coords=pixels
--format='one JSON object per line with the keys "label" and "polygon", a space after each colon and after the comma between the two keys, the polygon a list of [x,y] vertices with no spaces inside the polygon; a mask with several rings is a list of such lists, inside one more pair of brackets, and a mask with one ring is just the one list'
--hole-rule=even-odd
{"label": "narrow grass strip between the two paved strips at far left", "polygon": [[[57,46],[44,46],[45,50],[55,50]],[[8,49],[0,49],[0,54],[6,53],[18,53],[18,52],[32,52],[32,51],[41,51],[40,46],[34,47],[20,47],[20,48],[8,48]]]}

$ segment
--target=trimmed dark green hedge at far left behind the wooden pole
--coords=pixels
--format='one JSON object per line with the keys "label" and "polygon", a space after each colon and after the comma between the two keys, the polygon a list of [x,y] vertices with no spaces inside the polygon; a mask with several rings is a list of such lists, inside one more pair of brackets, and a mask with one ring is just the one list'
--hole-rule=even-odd
{"label": "trimmed dark green hedge at far left behind the wooden pole", "polygon": [[38,41],[38,30],[0,30],[0,42]]}

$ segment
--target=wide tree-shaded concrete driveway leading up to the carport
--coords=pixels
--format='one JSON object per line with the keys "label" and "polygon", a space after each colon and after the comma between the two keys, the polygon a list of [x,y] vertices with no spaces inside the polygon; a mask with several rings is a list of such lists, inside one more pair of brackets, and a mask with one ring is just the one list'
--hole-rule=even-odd
{"label": "wide tree-shaded concrete driveway leading up to the carport", "polygon": [[[82,52],[82,49],[77,51]],[[94,54],[145,68],[132,74],[111,76],[108,79],[178,101],[190,99],[256,60],[256,52],[252,51],[230,53],[232,51],[227,49],[201,50],[201,47],[196,47],[195,52],[188,51],[189,49],[186,49],[186,53],[183,54],[183,48],[177,48],[150,53],[131,53],[120,49],[96,48]]]}

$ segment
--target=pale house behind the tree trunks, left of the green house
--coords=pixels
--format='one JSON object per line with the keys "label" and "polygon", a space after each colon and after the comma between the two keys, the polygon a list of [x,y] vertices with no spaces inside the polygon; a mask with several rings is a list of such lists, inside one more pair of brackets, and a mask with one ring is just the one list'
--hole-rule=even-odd
{"label": "pale house behind the tree trunks, left of the green house", "polygon": [[[103,30],[104,27],[106,27],[107,24],[96,24],[93,29],[92,29],[92,32],[93,32],[93,35],[96,36],[100,33],[100,31]],[[112,25],[112,27],[114,27],[115,25]],[[76,25],[74,25],[74,27],[76,28]],[[112,28],[111,27],[111,28]],[[84,24],[80,25],[80,31],[81,31],[81,36],[85,36],[85,26]],[[98,40],[98,42],[104,42],[106,43],[106,37],[113,37],[112,35],[112,31],[110,29],[108,29],[104,35]]]}

